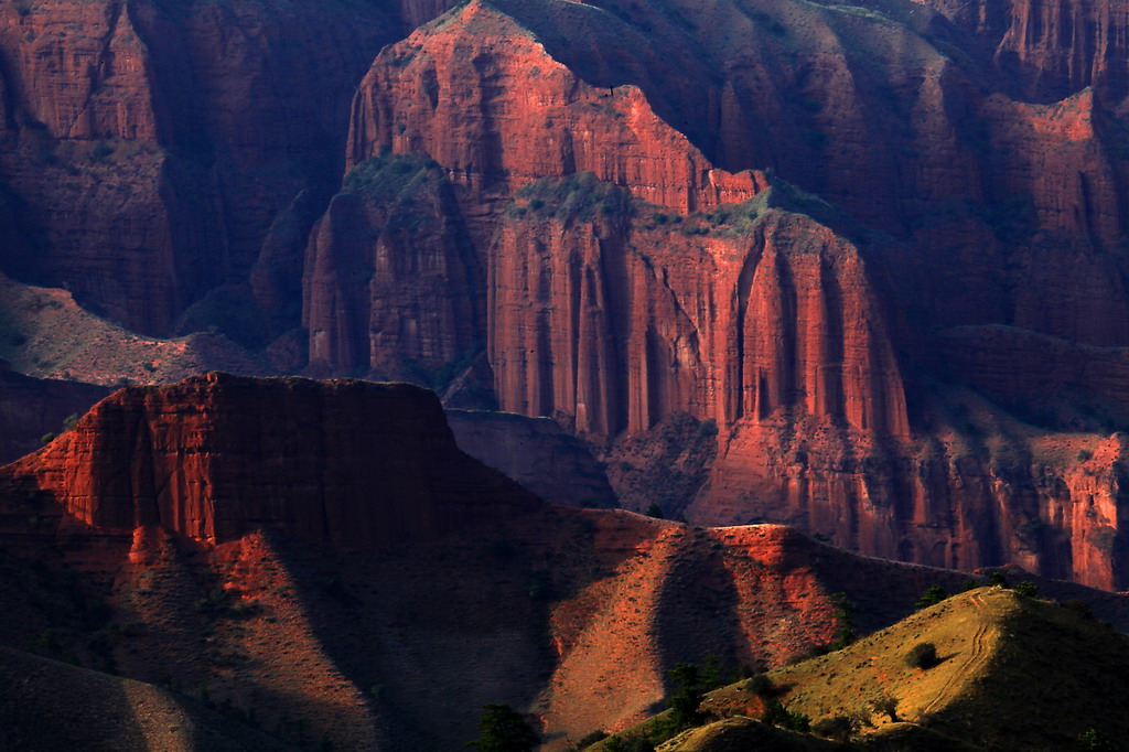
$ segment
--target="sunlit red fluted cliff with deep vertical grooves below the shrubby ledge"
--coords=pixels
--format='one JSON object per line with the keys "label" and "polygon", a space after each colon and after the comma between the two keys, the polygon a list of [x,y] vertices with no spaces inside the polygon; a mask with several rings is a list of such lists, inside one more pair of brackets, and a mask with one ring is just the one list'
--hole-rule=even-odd
{"label": "sunlit red fluted cliff with deep vertical grooves below the shrubby ledge", "polygon": [[834,231],[777,208],[787,189],[673,225],[616,217],[637,209],[595,184],[540,189],[519,194],[524,213],[491,247],[504,409],[605,437],[676,412],[725,430],[782,410],[907,434],[866,264]]}

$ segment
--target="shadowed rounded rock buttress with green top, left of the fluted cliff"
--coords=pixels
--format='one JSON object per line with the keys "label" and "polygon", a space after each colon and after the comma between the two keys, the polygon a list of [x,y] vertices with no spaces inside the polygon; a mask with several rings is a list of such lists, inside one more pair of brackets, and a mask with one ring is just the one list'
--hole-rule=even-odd
{"label": "shadowed rounded rock buttress with green top, left of the fluted cliff", "polygon": [[419,157],[365,163],[349,174],[307,250],[312,370],[446,386],[481,349],[480,280],[443,170]]}

